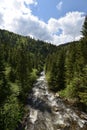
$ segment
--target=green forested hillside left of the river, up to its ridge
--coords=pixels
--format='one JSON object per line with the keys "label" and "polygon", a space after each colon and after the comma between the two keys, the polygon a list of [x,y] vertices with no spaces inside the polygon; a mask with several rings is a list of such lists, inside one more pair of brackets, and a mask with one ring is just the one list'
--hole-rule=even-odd
{"label": "green forested hillside left of the river, up to its ridge", "polygon": [[33,82],[56,47],[0,30],[0,129],[14,130]]}

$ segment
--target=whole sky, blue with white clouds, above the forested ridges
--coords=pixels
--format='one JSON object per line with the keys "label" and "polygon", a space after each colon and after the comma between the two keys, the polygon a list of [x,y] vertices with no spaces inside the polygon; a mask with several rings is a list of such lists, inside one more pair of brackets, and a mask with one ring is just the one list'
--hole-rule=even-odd
{"label": "whole sky, blue with white clouds, above the forested ridges", "polygon": [[81,38],[87,0],[0,0],[0,28],[52,44]]}

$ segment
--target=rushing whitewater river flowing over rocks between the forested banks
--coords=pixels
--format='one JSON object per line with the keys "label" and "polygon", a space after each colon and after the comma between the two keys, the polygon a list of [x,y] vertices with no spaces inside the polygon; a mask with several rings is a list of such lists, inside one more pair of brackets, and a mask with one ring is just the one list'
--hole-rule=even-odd
{"label": "rushing whitewater river flowing over rocks between the forested banks", "polygon": [[87,130],[87,115],[48,91],[44,72],[28,97],[29,115],[25,130]]}

